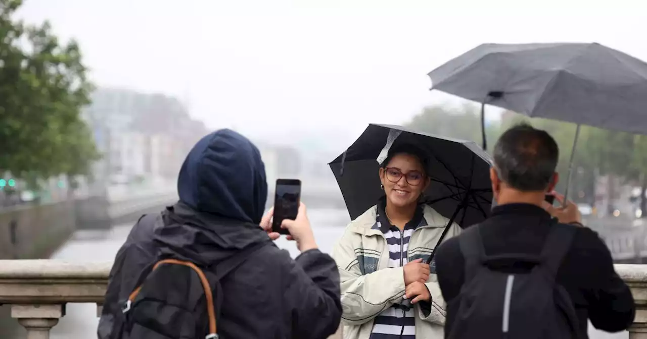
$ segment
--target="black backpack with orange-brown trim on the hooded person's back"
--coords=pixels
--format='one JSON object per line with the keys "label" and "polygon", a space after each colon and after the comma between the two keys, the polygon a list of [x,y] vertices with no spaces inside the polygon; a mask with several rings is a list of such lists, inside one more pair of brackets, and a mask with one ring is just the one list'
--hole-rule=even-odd
{"label": "black backpack with orange-brown trim on the hooded person's back", "polygon": [[218,339],[220,280],[267,244],[248,247],[215,269],[160,258],[142,272],[137,289],[123,302],[112,338]]}

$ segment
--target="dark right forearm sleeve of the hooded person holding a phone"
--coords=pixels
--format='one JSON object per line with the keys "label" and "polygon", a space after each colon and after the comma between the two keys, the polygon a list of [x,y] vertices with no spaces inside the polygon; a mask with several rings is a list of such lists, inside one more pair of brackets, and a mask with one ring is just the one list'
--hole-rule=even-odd
{"label": "dark right forearm sleeve of the hooded person holding a phone", "polygon": [[339,271],[318,249],[303,252],[289,267],[285,300],[291,305],[292,338],[326,339],[342,319]]}

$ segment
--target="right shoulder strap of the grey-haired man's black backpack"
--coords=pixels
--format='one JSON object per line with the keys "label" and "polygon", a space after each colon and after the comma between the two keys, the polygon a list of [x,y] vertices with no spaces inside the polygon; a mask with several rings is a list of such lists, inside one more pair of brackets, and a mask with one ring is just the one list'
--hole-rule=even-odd
{"label": "right shoulder strap of the grey-haired man's black backpack", "polygon": [[540,254],[540,258],[542,259],[542,265],[540,267],[543,267],[544,272],[551,279],[554,280],[557,276],[564,256],[571,249],[574,236],[575,227],[557,222],[553,222],[553,225],[551,225],[551,229],[543,243],[542,254]]}

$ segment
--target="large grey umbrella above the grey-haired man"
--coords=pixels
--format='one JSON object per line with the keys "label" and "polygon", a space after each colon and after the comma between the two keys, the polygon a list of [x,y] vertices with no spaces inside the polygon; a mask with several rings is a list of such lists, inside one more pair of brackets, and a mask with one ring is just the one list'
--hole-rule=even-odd
{"label": "large grey umbrella above the grey-haired man", "polygon": [[647,134],[647,63],[598,43],[488,43],[428,75],[432,89],[481,103],[481,123],[486,104],[576,123],[573,151],[580,124]]}

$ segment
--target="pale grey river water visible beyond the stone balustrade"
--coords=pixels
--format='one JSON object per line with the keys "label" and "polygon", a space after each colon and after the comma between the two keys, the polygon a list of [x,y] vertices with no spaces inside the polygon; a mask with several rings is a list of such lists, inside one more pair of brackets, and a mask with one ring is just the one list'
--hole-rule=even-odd
{"label": "pale grey river water visible beyond the stone balustrade", "polygon": [[[344,226],[349,221],[346,211],[339,209],[310,209],[309,219],[313,226],[314,234],[320,249],[330,252],[334,242],[342,235]],[[67,260],[69,262],[100,262],[115,259],[116,251],[126,240],[132,224],[116,225],[110,231],[78,231],[52,259]],[[292,257],[298,255],[294,242],[284,238],[277,240],[277,244],[287,249]],[[52,339],[89,339],[96,338],[96,305],[71,303],[67,305],[67,314],[60,323],[52,329]],[[591,339],[626,339],[628,334],[607,334],[596,331],[589,325]],[[24,338],[24,337],[19,337]]]}

